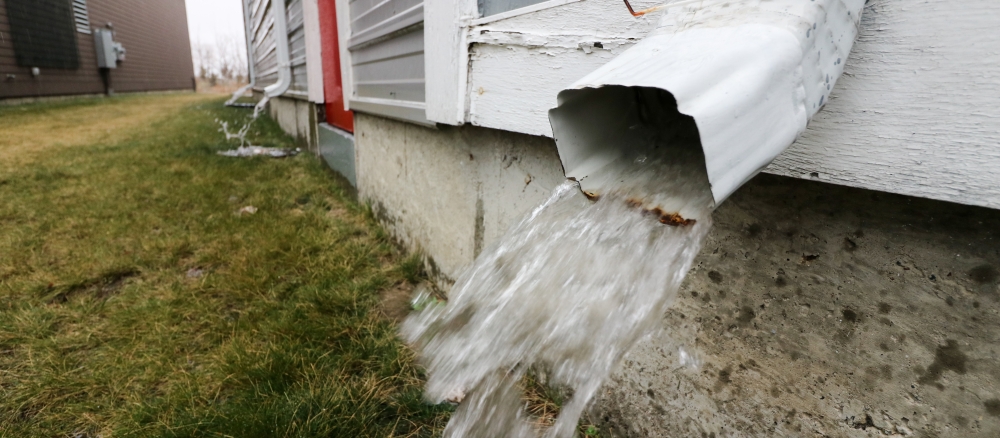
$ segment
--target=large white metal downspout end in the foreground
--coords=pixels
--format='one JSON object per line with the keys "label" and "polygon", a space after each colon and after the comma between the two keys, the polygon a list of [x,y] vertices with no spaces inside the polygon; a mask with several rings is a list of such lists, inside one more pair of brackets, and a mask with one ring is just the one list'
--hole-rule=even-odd
{"label": "large white metal downspout end in the foreground", "polygon": [[665,5],[649,37],[559,93],[549,121],[566,176],[600,194],[616,169],[650,148],[669,149],[667,140],[688,124],[697,129],[718,205],[829,100],[864,3]]}

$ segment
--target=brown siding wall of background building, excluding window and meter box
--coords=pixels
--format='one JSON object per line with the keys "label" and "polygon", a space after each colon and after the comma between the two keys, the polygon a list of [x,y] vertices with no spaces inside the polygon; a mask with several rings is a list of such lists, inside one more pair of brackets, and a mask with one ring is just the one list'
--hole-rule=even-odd
{"label": "brown siding wall of background building, excluding window and meter box", "polygon": [[[114,25],[115,41],[127,58],[111,71],[116,92],[194,88],[194,66],[184,0],[89,0],[91,28]],[[93,35],[76,33],[80,68],[41,69],[18,66],[10,38],[6,4],[0,0],[0,99],[103,93]],[[14,75],[9,78],[8,75]]]}

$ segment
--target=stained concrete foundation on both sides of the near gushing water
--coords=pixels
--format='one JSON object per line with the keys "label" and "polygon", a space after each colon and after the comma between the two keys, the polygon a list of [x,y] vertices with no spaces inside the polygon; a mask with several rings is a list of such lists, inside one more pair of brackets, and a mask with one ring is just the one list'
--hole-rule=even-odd
{"label": "stained concrete foundation on both sides of the near gushing water", "polygon": [[[543,137],[358,114],[355,140],[359,196],[444,288],[563,180]],[[604,435],[1000,436],[1000,211],[762,175],[714,217]]]}

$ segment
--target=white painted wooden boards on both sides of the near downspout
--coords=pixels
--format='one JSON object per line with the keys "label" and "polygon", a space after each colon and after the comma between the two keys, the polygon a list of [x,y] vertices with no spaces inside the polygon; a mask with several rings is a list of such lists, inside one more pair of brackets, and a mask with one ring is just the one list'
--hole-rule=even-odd
{"label": "white painted wooden boards on both sides of the near downspout", "polygon": [[[458,61],[469,66],[468,104],[453,105],[477,126],[551,136],[559,91],[645,37],[658,16],[551,0],[453,20],[471,44]],[[992,0],[868,2],[829,103],[765,172],[1000,208],[998,16]]]}

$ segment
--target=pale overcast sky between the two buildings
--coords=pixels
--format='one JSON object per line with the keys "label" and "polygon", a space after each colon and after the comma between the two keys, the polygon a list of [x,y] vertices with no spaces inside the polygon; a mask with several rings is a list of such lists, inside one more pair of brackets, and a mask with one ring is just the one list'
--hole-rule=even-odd
{"label": "pale overcast sky between the two buildings", "polygon": [[243,30],[242,0],[185,0],[191,46],[217,46],[219,41],[239,41],[240,56],[246,59],[246,32]]}

